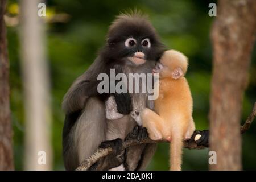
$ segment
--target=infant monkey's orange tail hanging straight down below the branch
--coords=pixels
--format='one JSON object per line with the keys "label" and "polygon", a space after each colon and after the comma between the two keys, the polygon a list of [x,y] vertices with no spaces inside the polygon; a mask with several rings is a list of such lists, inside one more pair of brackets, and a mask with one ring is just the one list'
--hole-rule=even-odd
{"label": "infant monkey's orange tail hanging straight down below the branch", "polygon": [[170,170],[180,171],[182,163],[183,139],[181,136],[172,136],[170,143]]}

